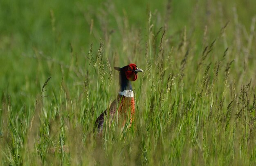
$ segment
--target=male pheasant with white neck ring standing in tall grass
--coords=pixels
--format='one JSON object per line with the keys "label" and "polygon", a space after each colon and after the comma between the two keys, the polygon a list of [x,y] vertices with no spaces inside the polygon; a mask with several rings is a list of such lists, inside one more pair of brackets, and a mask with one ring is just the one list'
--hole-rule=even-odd
{"label": "male pheasant with white neck ring standing in tall grass", "polygon": [[114,68],[119,72],[119,93],[110,107],[102,112],[95,121],[99,135],[102,135],[104,121],[107,121],[110,125],[116,119],[119,124],[121,121],[122,126],[125,126],[127,120],[129,120],[130,128],[135,118],[135,100],[131,81],[136,81],[137,73],[143,72],[143,70],[134,63]]}

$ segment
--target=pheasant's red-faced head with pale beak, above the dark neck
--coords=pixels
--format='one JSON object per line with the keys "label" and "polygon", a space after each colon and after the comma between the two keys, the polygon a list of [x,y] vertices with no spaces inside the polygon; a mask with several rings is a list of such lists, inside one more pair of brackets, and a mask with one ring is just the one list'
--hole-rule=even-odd
{"label": "pheasant's red-faced head with pale beak, above the dark neck", "polygon": [[115,70],[118,70],[120,73],[124,73],[126,78],[130,81],[135,81],[137,79],[137,73],[143,72],[140,68],[137,67],[134,63],[130,63],[127,66],[124,66],[122,68],[115,67]]}

